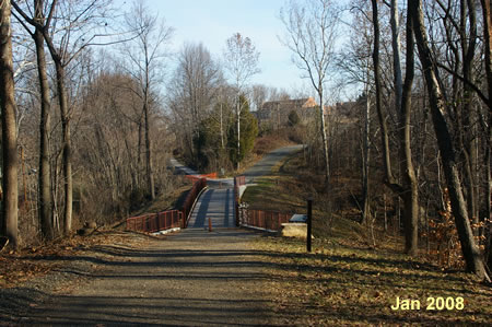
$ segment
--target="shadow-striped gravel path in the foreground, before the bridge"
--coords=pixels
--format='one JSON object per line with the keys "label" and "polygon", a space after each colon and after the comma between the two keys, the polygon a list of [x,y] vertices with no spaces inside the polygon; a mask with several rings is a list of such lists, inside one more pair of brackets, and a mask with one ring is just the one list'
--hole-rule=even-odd
{"label": "shadow-striped gravel path in the foreground, before the bridge", "polygon": [[[271,322],[255,234],[191,229],[145,248],[95,249],[107,259],[69,291],[54,292],[17,320],[36,325],[253,326]],[[108,256],[109,255],[109,256]]]}

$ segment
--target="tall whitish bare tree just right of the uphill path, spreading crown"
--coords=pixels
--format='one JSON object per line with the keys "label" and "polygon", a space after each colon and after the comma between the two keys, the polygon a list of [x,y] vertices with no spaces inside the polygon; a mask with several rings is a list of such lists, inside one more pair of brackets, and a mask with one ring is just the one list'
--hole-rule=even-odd
{"label": "tall whitish bare tree just right of the uphill path, spreading crown", "polygon": [[335,63],[335,40],[338,35],[339,10],[332,0],[308,0],[298,4],[291,0],[280,11],[280,17],[286,28],[283,39],[291,51],[293,61],[305,72],[316,90],[319,100],[320,135],[325,160],[325,185],[330,186],[328,124],[325,119],[325,84],[329,79],[329,69]]}

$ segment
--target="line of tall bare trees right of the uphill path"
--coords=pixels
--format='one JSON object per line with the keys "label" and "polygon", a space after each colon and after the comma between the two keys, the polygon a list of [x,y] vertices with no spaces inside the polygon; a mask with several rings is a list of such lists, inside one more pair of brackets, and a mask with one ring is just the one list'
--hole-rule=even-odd
{"label": "line of tall bare trees right of the uphill path", "polygon": [[[419,242],[429,237],[429,217],[431,224],[450,218],[467,270],[488,280],[490,5],[313,0],[290,1],[281,10],[283,42],[321,103],[348,84],[362,91],[352,112],[356,124],[341,122],[347,115],[337,107],[319,110],[318,167],[327,200],[333,201],[330,177],[350,173],[340,164],[341,149],[349,148],[347,156],[361,167],[361,222],[374,220],[382,198],[376,185],[383,183],[395,206],[402,203],[408,254],[417,255]],[[342,28],[351,31],[348,40]],[[328,82],[336,86],[328,89]]]}

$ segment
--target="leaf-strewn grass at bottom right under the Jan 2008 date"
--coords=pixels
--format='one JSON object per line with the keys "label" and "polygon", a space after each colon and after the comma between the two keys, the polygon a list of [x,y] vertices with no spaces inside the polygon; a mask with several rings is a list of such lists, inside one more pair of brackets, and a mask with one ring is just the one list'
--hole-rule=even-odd
{"label": "leaf-strewn grass at bottom right under the Jan 2008 date", "polygon": [[[318,241],[320,242],[320,241]],[[316,246],[319,246],[317,244]],[[456,311],[425,311],[427,296],[462,296],[460,324],[490,323],[492,291],[466,273],[442,273],[398,254],[330,244],[329,250],[305,255],[303,244],[262,237],[256,249],[272,264],[268,290],[273,310],[288,325],[453,325]],[[269,256],[268,254],[274,254]],[[432,290],[430,292],[430,290]],[[432,294],[431,294],[432,293]],[[419,300],[420,311],[391,311],[396,296]]]}

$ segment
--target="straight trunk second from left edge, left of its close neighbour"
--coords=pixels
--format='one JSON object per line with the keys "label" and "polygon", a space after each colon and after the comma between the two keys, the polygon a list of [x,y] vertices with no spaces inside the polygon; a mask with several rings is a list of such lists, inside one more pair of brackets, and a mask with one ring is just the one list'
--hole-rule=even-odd
{"label": "straight trunk second from left edge, left of its close neighbour", "polygon": [[[38,2],[36,1],[36,5]],[[43,20],[42,8],[36,8],[36,19]],[[39,207],[39,223],[40,232],[45,240],[52,240],[55,231],[52,227],[52,196],[51,196],[51,176],[49,163],[49,132],[50,132],[50,116],[51,103],[49,96],[49,83],[46,69],[45,42],[43,32],[36,28],[34,32],[34,43],[36,45],[37,57],[37,73],[39,79],[40,92],[40,120],[39,120],[39,191],[38,191],[38,207]]]}

